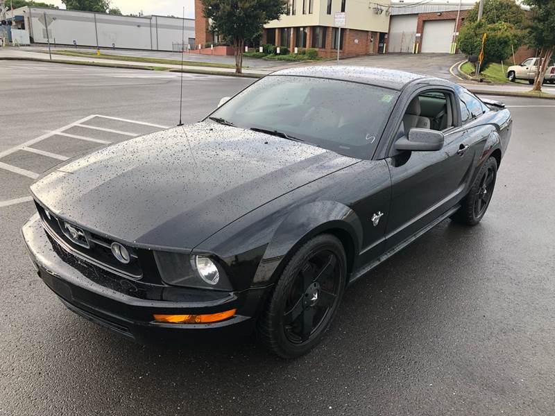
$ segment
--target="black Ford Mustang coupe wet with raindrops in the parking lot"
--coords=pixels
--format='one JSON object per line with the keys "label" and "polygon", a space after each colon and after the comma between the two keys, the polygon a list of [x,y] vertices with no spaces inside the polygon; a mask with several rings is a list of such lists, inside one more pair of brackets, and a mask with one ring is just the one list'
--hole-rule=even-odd
{"label": "black Ford Mustang coupe wet with raindrops in the parking lot", "polygon": [[69,309],[129,338],[256,329],[299,356],[345,286],[445,218],[479,223],[511,127],[446,80],[287,69],[56,168],[22,232]]}

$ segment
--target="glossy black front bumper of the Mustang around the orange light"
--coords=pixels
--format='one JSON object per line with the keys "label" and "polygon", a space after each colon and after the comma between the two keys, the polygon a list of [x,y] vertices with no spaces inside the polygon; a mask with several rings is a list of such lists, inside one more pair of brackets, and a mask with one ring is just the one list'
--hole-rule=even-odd
{"label": "glossy black front bumper of the Mustang around the orange light", "polygon": [[[46,235],[35,214],[22,228],[29,257],[46,286],[71,310],[138,343],[245,335],[253,331],[269,287],[239,292],[144,285],[99,272],[63,252]],[[156,314],[207,314],[237,309],[232,318],[211,324],[164,324]]]}

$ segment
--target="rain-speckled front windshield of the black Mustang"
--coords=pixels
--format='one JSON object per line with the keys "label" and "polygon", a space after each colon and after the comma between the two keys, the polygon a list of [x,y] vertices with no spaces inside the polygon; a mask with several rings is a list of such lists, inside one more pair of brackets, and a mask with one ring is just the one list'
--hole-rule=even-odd
{"label": "rain-speckled front windshield of the black Mustang", "polygon": [[267,76],[209,117],[239,128],[371,157],[398,92],[304,76]]}

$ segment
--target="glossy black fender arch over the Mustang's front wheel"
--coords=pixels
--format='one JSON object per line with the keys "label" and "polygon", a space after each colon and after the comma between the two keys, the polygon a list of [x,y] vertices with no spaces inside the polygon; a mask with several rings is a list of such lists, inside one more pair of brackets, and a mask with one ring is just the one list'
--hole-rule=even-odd
{"label": "glossy black fender arch over the Mustang's front wheel", "polygon": [[253,284],[275,283],[289,259],[302,244],[332,229],[339,231],[343,239],[350,239],[352,259],[348,259],[351,262],[348,266],[352,266],[362,245],[362,225],[359,216],[340,202],[314,201],[289,212],[275,229],[259,263]]}

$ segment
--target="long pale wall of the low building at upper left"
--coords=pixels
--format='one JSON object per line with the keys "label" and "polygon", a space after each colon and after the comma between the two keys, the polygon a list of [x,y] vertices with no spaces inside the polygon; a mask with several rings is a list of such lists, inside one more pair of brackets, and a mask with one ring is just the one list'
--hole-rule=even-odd
{"label": "long pale wall of the low building at upper left", "polygon": [[[171,51],[172,44],[182,40],[182,19],[175,17],[115,16],[35,7],[15,10],[15,15],[24,15],[35,43],[47,42],[46,29],[39,21],[45,12],[53,19],[49,25],[51,43],[73,44],[75,40],[79,46],[111,48],[115,44],[117,48]],[[194,37],[194,19],[185,19],[185,43]]]}

